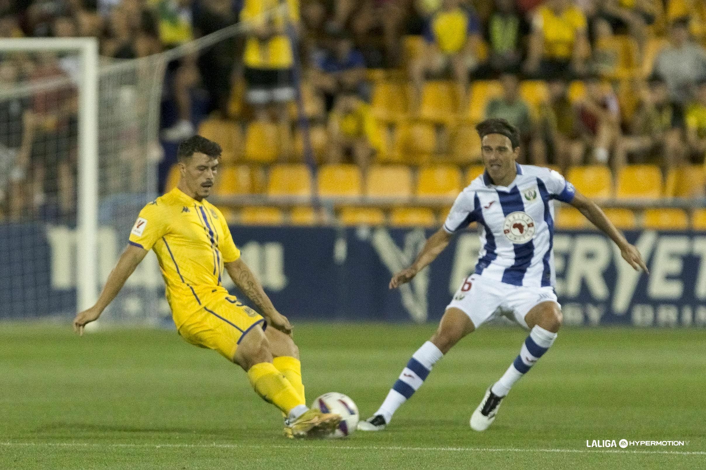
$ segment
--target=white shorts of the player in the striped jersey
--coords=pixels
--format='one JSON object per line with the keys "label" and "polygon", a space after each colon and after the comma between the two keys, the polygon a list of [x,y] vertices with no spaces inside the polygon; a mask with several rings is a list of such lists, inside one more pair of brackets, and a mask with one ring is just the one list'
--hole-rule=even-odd
{"label": "white shorts of the player in the striped jersey", "polygon": [[472,274],[463,281],[446,309],[459,309],[469,316],[475,328],[505,316],[529,329],[525,315],[542,302],[556,302],[553,287],[510,285]]}

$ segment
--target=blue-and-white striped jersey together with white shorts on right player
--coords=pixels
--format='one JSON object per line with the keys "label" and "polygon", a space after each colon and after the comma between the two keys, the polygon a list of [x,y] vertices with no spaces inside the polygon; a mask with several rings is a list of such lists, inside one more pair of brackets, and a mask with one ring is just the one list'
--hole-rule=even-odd
{"label": "blue-and-white striped jersey together with white shorts on right player", "polygon": [[454,202],[443,225],[455,233],[476,222],[481,250],[471,275],[448,308],[464,311],[478,328],[495,316],[508,316],[527,328],[525,315],[554,293],[554,204],[573,200],[575,189],[549,168],[516,163],[509,186],[493,185],[487,172],[473,180]]}

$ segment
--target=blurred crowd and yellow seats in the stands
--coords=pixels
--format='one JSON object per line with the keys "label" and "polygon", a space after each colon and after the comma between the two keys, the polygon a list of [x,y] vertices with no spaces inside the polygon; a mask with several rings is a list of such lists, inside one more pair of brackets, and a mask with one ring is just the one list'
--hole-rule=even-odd
{"label": "blurred crowd and yellow seats in the stands", "polygon": [[[660,186],[686,172],[698,184],[678,195],[704,195],[701,0],[0,0],[0,37],[97,36],[113,58],[148,56],[239,22],[242,37],[169,65],[176,116],[162,132],[167,142],[194,132],[221,142],[224,174],[236,182],[225,186],[249,187],[234,192],[267,192],[263,178],[291,163],[354,165],[361,181],[390,163],[409,166],[417,181],[434,165],[472,173],[473,126],[500,117],[520,130],[521,163],[565,175],[606,168],[605,197],[634,165],[658,168]],[[75,73],[55,62],[46,74]],[[0,81],[23,73],[35,72],[0,62]],[[193,113],[195,89],[208,92],[205,120]],[[71,128],[71,106],[59,107]],[[0,109],[0,126],[11,112]],[[37,128],[33,121],[14,122]],[[0,128],[6,135],[23,132]],[[25,162],[8,185],[32,173],[23,155],[37,139],[0,140],[0,154]]]}

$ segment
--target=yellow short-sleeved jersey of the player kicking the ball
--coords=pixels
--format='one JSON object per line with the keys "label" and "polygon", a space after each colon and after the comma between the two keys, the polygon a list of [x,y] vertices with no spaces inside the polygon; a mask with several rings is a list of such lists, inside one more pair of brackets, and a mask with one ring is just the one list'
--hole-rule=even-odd
{"label": "yellow short-sleeved jersey of the player kicking the ball", "polygon": [[215,295],[228,295],[223,264],[240,257],[220,211],[176,187],[140,211],[130,244],[157,254],[177,328]]}

